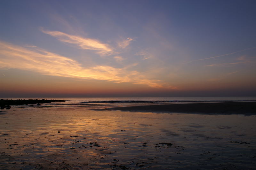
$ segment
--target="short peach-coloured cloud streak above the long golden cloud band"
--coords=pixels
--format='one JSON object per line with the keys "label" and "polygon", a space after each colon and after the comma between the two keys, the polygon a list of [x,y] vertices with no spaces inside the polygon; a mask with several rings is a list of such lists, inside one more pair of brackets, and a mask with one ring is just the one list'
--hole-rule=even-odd
{"label": "short peach-coloured cloud streak above the long golden cloud band", "polygon": [[69,35],[60,31],[46,31],[43,28],[41,30],[43,33],[52,35],[62,42],[74,44],[76,47],[84,50],[97,50],[100,55],[110,55],[113,53],[113,49],[108,44],[101,43],[99,40]]}

